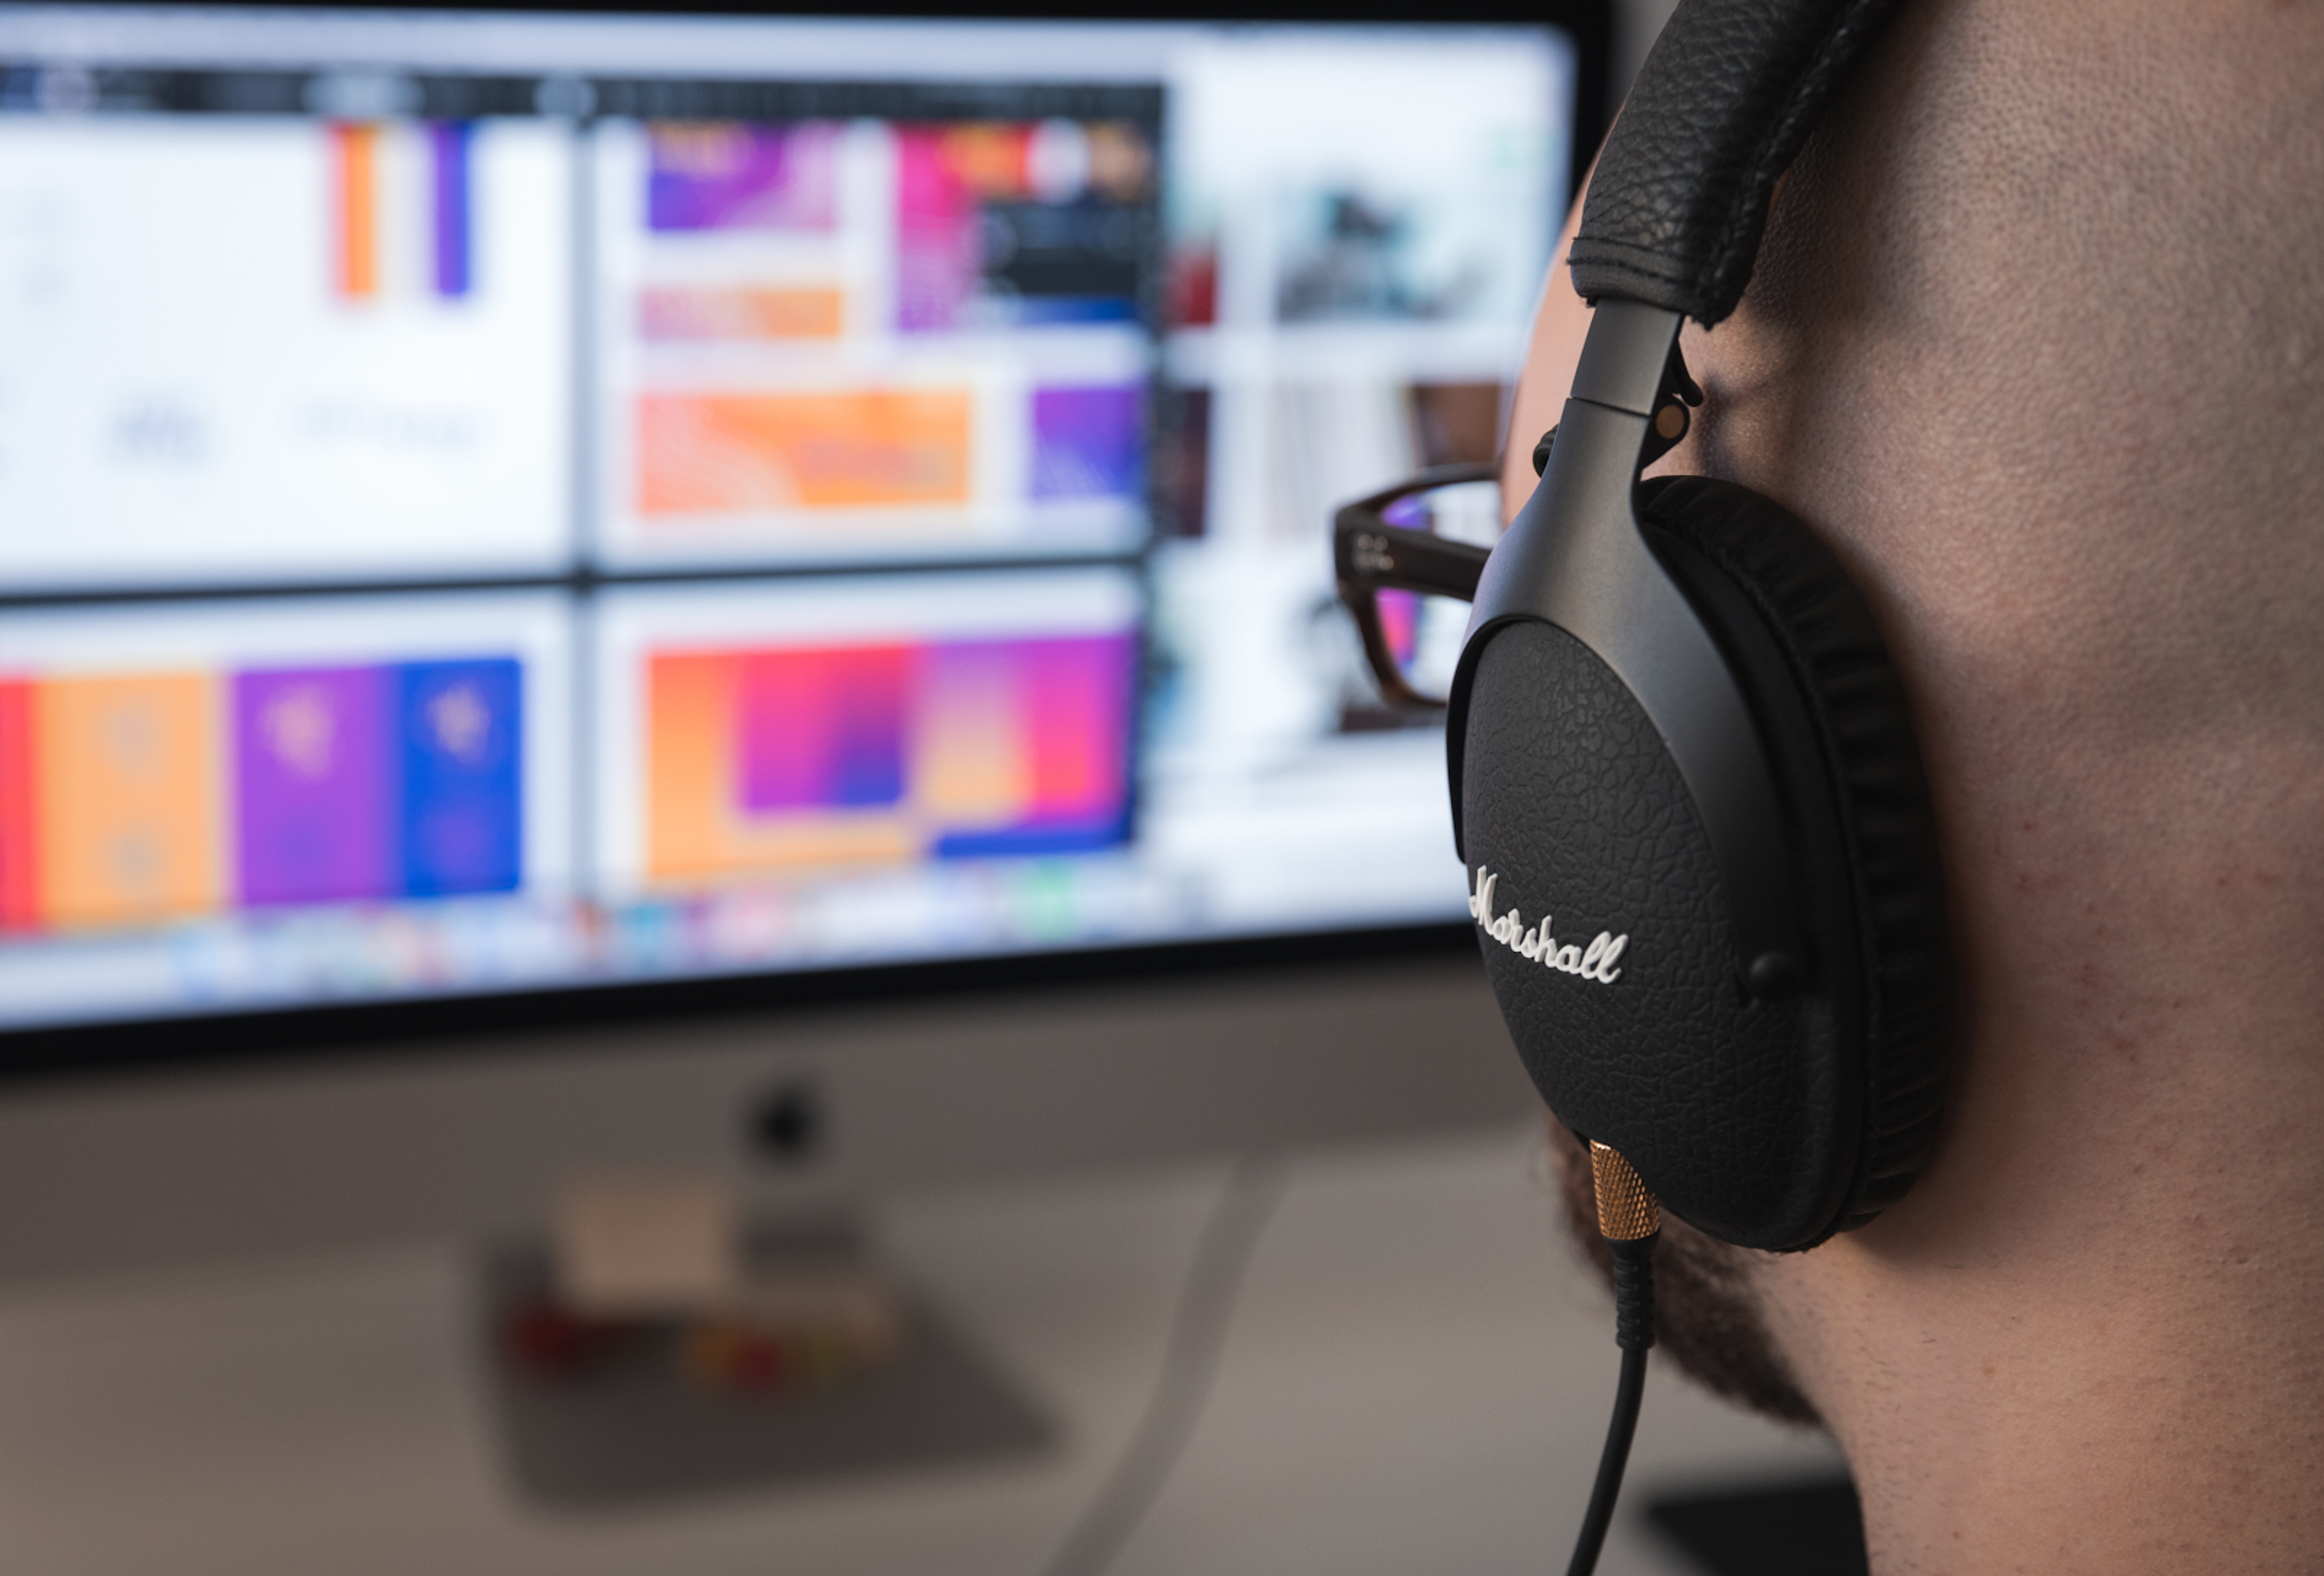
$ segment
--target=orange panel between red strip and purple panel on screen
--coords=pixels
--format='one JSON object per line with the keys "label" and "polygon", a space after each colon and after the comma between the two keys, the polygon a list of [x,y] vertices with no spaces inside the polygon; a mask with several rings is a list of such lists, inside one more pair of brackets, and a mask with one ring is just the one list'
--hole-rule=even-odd
{"label": "orange panel between red strip and purple panel on screen", "polygon": [[30,688],[42,916],[70,930],[216,909],[216,683],[119,674]]}

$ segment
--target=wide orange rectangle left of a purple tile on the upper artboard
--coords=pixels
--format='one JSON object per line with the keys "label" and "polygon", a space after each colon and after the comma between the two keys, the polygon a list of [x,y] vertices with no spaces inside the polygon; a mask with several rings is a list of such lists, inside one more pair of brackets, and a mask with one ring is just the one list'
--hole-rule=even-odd
{"label": "wide orange rectangle left of a purple tile on the upper artboard", "polygon": [[969,393],[644,395],[639,514],[969,502]]}

